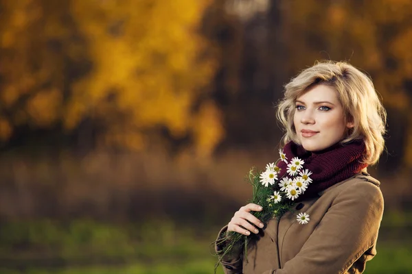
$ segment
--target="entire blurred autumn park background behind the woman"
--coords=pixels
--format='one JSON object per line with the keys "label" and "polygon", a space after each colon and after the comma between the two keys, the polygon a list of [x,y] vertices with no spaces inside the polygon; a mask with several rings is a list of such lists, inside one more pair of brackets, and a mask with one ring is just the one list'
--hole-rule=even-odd
{"label": "entire blurred autumn park background behind the woman", "polygon": [[387,109],[366,273],[412,273],[411,49],[408,0],[0,0],[0,273],[213,273],[316,60]]}

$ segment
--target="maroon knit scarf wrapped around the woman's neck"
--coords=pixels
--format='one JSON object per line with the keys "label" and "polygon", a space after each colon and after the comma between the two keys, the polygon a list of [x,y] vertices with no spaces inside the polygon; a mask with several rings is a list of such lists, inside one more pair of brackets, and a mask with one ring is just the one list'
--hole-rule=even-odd
{"label": "maroon knit scarf wrapped around the woman's neck", "polygon": [[[367,166],[360,162],[365,153],[363,140],[354,140],[345,145],[337,143],[315,153],[306,151],[301,145],[290,141],[283,150],[288,162],[294,157],[301,158],[305,162],[303,169],[309,169],[312,172],[310,175],[312,183],[304,195],[299,197],[299,201],[354,176]],[[277,165],[281,169],[278,177],[282,177],[286,173],[287,164],[279,162]]]}

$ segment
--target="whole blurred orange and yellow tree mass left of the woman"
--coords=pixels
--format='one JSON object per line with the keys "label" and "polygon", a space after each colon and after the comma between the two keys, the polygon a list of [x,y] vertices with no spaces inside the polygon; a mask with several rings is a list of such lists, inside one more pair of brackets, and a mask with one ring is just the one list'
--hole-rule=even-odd
{"label": "whole blurred orange and yellow tree mass left of the woman", "polygon": [[214,51],[198,32],[208,5],[2,1],[1,138],[22,125],[80,135],[86,125],[101,146],[144,149],[163,132],[209,155],[223,130],[208,95]]}

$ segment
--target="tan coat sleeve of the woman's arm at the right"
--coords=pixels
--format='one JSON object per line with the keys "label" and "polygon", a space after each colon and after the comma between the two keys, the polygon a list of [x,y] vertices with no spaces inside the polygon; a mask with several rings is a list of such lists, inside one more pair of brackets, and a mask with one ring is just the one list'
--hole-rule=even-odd
{"label": "tan coat sleeve of the woman's arm at the right", "polygon": [[360,179],[334,199],[295,258],[264,274],[344,273],[375,245],[382,214],[382,192]]}

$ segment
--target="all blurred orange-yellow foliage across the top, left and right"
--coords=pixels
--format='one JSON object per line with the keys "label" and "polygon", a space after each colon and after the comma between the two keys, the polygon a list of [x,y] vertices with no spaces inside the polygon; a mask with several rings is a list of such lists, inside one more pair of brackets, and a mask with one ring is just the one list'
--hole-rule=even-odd
{"label": "all blurred orange-yellow foliage across the top, left and right", "polygon": [[[70,130],[89,117],[107,129],[103,145],[144,149],[146,132],[163,126],[174,138],[193,137],[198,155],[209,155],[225,135],[222,114],[207,101],[217,60],[209,57],[211,43],[198,32],[212,2],[67,0],[50,7],[56,2],[0,0],[0,104],[6,110],[0,114],[0,138],[25,123],[62,122]],[[279,60],[282,70],[293,75],[314,60],[350,60],[374,77],[386,106],[407,112],[412,30],[405,22],[412,17],[411,1],[279,5],[282,22],[272,35],[293,53]],[[388,27],[385,34],[382,26]],[[229,90],[240,83],[240,33],[227,45],[237,51],[224,64],[234,67],[225,80]],[[76,42],[82,39],[86,42]],[[84,58],[91,71],[70,78],[67,60]]]}

